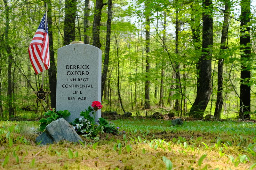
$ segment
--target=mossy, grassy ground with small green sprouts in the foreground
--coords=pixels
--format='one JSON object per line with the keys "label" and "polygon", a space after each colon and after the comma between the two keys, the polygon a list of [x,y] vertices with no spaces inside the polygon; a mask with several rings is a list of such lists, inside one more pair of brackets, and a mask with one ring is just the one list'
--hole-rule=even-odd
{"label": "mossy, grassy ground with small green sprouts in the foreground", "polygon": [[[120,127],[118,135],[50,145],[35,143],[38,122],[1,121],[0,169],[256,168],[254,122],[185,121],[172,126],[170,120],[110,121]],[[26,128],[15,129],[18,123]]]}

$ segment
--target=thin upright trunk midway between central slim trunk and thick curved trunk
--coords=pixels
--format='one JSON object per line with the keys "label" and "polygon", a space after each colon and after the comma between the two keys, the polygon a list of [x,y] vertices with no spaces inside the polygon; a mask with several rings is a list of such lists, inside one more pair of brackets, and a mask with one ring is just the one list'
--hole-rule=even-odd
{"label": "thin upright trunk midway between central slim trunk and thick curved trunk", "polygon": [[[178,21],[178,11],[176,10],[176,22],[175,22],[175,54],[176,54],[176,57],[178,58],[179,56],[179,49],[178,49],[178,34],[180,32],[180,24],[179,24],[179,21]],[[180,111],[180,102],[179,102],[179,96],[180,96],[180,93],[179,93],[179,89],[180,89],[180,86],[179,86],[179,64],[175,64],[175,70],[176,70],[176,74],[175,74],[175,104],[174,104],[174,110],[176,111]]]}

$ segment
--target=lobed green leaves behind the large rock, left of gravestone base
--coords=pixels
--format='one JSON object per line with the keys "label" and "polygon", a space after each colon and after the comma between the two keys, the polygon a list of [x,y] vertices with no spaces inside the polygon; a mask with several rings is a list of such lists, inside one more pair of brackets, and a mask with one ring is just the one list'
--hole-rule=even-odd
{"label": "lobed green leaves behind the large rock, left of gravestone base", "polygon": [[47,112],[44,113],[44,116],[46,116],[47,118],[42,118],[39,120],[40,124],[40,131],[44,131],[45,127],[50,124],[52,121],[55,121],[59,118],[65,118],[68,117],[70,115],[70,112],[68,110],[60,110],[60,111],[56,111],[55,108],[52,108],[50,110],[48,110]]}

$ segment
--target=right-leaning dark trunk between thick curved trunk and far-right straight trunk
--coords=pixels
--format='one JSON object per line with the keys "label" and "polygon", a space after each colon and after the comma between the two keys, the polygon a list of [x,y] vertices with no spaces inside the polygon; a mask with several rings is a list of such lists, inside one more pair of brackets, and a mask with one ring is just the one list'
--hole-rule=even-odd
{"label": "right-leaning dark trunk between thick curved trunk and far-right straight trunk", "polygon": [[220,119],[220,114],[223,105],[223,52],[227,49],[226,39],[228,37],[228,17],[229,17],[229,8],[230,8],[230,0],[225,0],[225,10],[224,10],[224,19],[221,33],[221,41],[220,41],[220,58],[218,61],[218,92],[217,92],[217,100],[215,105],[214,117]]}

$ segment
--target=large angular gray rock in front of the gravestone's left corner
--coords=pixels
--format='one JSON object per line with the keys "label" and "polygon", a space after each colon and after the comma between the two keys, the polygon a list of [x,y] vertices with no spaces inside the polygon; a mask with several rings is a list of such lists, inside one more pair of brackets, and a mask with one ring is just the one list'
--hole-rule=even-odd
{"label": "large angular gray rock in front of the gravestone's left corner", "polygon": [[36,138],[36,142],[42,141],[40,144],[52,144],[59,141],[78,142],[79,140],[83,142],[75,129],[63,118],[52,121],[46,126],[46,130]]}

